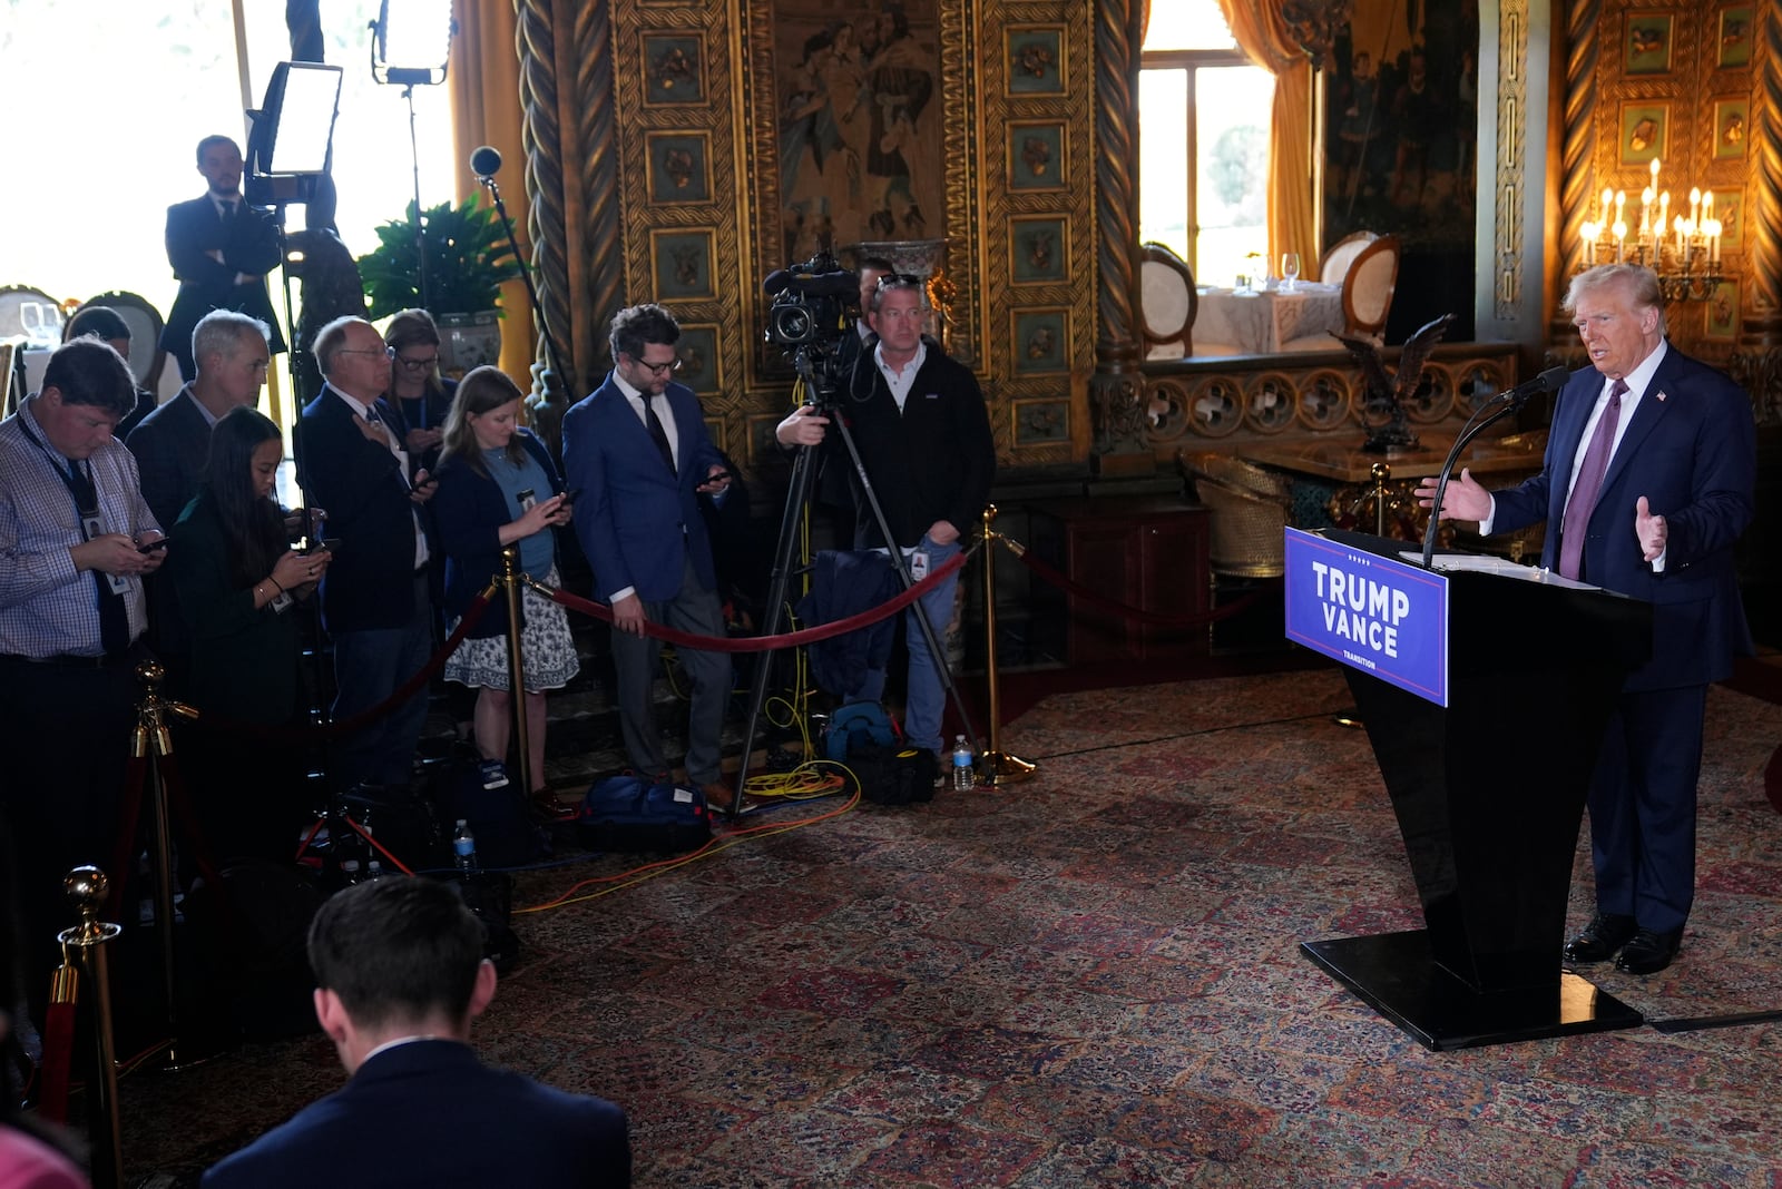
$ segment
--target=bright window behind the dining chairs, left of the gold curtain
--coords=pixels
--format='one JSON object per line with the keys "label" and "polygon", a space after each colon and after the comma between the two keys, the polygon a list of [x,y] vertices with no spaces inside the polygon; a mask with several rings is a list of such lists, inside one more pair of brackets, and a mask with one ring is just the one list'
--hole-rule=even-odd
{"label": "bright window behind the dining chairs, left of the gold curtain", "polygon": [[1139,69],[1139,239],[1194,278],[1265,269],[1274,78],[1231,37],[1217,0],[1153,4]]}

